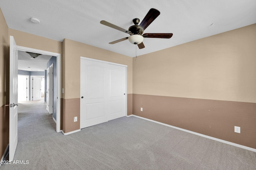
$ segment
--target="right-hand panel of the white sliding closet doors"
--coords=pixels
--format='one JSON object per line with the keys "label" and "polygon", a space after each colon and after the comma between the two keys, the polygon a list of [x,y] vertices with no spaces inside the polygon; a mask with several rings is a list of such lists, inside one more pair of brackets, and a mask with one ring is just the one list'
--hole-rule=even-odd
{"label": "right-hand panel of the white sliding closet doors", "polygon": [[108,120],[124,117],[126,113],[126,67],[109,64],[110,114]]}

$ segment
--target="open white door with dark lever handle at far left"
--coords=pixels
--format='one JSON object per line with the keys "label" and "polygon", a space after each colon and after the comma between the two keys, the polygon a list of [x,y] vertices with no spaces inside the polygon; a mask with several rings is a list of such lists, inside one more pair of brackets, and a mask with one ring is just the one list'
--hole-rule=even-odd
{"label": "open white door with dark lever handle at far left", "polygon": [[10,101],[9,160],[12,161],[18,143],[18,47],[10,36]]}

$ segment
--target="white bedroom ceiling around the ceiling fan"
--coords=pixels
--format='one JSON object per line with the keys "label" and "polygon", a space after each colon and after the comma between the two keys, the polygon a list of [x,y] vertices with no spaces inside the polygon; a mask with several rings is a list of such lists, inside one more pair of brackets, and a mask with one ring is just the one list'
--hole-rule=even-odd
{"label": "white bedroom ceiling around the ceiling fan", "polygon": [[[9,28],[63,41],[64,38],[136,56],[129,41],[108,44],[128,34],[100,24],[106,20],[128,29],[150,8],[161,12],[144,33],[173,33],[171,39],[145,38],[143,55],[256,23],[256,0],[1,0]],[[41,23],[30,22],[38,18]],[[212,25],[213,23],[213,25]]]}

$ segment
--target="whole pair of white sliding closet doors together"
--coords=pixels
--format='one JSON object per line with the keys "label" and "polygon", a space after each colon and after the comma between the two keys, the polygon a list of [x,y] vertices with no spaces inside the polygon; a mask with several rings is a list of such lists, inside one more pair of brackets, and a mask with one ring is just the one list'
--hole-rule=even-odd
{"label": "whole pair of white sliding closet doors together", "polygon": [[127,66],[80,59],[80,129],[127,114]]}

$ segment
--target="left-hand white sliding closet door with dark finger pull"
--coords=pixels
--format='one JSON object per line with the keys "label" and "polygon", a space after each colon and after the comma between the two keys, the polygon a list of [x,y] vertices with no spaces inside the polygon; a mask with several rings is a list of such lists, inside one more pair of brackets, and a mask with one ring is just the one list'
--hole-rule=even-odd
{"label": "left-hand white sliding closet door with dark finger pull", "polygon": [[81,59],[80,128],[108,121],[108,64]]}

